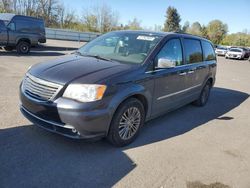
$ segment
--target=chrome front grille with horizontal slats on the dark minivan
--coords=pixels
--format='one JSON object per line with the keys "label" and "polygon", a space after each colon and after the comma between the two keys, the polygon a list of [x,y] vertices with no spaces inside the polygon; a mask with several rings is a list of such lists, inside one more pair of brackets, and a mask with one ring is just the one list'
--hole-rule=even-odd
{"label": "chrome front grille with horizontal slats on the dark minivan", "polygon": [[40,101],[53,100],[61,89],[62,85],[42,80],[28,73],[25,75],[22,83],[22,91],[26,95]]}

